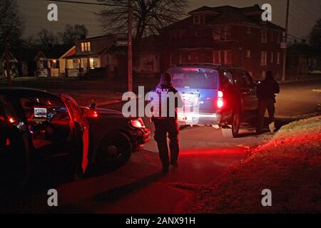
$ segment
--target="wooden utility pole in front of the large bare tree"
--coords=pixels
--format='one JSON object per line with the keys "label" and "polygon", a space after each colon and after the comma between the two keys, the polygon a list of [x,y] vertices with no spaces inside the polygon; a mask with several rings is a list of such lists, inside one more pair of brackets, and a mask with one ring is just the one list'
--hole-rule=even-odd
{"label": "wooden utility pole in front of the large bare tree", "polygon": [[133,9],[131,8],[131,1],[128,0],[128,91],[133,91]]}

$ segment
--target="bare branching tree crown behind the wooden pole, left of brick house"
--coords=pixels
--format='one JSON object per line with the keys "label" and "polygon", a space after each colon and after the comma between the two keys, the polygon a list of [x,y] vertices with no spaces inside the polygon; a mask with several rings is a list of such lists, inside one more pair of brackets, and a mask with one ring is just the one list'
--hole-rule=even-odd
{"label": "bare branching tree crown behind the wooden pole, left of brick house", "polygon": [[[128,0],[96,0],[108,4],[98,14],[107,33],[127,33]],[[133,0],[133,36],[140,41],[143,36],[158,31],[185,15],[186,0]]]}

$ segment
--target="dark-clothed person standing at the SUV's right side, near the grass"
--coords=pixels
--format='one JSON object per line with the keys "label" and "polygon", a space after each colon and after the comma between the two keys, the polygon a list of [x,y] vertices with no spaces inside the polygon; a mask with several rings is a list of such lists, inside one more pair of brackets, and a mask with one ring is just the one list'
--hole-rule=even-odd
{"label": "dark-clothed person standing at the SUV's right side, near the grass", "polygon": [[262,133],[265,110],[269,113],[270,131],[275,131],[275,93],[280,93],[280,87],[277,84],[277,81],[273,78],[272,71],[267,71],[265,81],[260,83],[257,87],[257,96],[259,98],[257,133]]}

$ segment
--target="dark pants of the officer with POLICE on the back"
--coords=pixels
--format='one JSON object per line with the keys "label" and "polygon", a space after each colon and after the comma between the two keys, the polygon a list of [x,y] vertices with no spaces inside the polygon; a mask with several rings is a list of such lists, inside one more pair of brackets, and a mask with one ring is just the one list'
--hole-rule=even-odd
{"label": "dark pants of the officer with POLICE on the back", "polygon": [[157,142],[159,157],[163,163],[163,167],[168,167],[168,145],[167,137],[170,140],[170,163],[175,164],[178,160],[179,146],[178,146],[178,125],[175,119],[155,119],[153,120],[155,125],[154,139]]}

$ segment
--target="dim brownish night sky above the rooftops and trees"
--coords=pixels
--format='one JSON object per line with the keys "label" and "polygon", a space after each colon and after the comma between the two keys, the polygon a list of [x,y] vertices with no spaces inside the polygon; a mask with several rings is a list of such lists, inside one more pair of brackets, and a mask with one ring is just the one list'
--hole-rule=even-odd
{"label": "dim brownish night sky above the rooftops and trees", "polygon": [[[93,0],[78,0],[91,1]],[[36,36],[42,28],[57,33],[63,30],[65,24],[84,24],[88,28],[88,36],[102,35],[98,17],[94,14],[101,6],[83,4],[56,3],[58,6],[58,21],[47,20],[47,6],[51,3],[44,0],[18,0],[20,10],[26,18],[24,37]],[[285,26],[286,0],[189,0],[188,11],[200,6],[253,6],[269,3],[272,5],[272,22]],[[290,0],[289,33],[300,38],[307,38],[312,26],[321,17],[320,0]]]}

